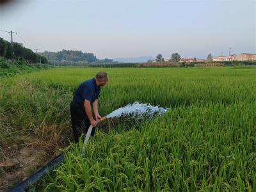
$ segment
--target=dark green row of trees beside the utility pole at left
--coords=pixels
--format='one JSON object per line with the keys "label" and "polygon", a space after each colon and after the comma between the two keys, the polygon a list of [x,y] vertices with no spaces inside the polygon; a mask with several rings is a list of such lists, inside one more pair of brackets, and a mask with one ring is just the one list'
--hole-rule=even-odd
{"label": "dark green row of trees beside the utility pole at left", "polygon": [[48,63],[44,56],[36,54],[31,49],[24,47],[22,44],[12,43],[0,38],[0,57],[3,60],[26,61],[27,63]]}

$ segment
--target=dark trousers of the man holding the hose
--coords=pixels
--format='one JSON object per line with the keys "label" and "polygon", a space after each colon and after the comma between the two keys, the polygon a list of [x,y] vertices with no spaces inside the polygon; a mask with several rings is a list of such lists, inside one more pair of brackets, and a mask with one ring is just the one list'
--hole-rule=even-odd
{"label": "dark trousers of the man holding the hose", "polygon": [[[74,133],[74,138],[76,143],[79,140],[81,134],[84,134],[83,141],[85,135],[91,125],[88,116],[85,113],[84,105],[77,104],[76,102],[72,101],[70,103],[70,114],[71,114],[71,121],[72,121],[72,129]],[[92,129],[91,136],[94,136],[95,128]]]}

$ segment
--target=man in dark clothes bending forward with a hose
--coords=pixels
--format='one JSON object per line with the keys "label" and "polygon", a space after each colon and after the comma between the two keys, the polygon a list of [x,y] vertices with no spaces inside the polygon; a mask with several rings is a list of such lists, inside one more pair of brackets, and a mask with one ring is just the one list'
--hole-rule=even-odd
{"label": "man in dark clothes bending forward with a hose", "polygon": [[[74,98],[70,103],[70,113],[72,120],[72,129],[75,141],[78,142],[81,134],[86,134],[90,125],[95,127],[97,120],[101,119],[98,111],[98,97],[100,94],[100,86],[108,83],[108,74],[106,72],[98,72],[95,78],[88,79],[79,85]],[[92,109],[95,120],[92,116]],[[91,135],[94,136],[95,129]]]}

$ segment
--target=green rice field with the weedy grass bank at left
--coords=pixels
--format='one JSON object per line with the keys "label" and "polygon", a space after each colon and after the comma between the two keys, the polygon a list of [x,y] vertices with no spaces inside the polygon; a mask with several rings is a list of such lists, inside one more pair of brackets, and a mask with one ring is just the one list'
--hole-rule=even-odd
{"label": "green rice field with the weedy grass bank at left", "polygon": [[3,78],[0,144],[17,134],[45,143],[70,138],[73,93],[101,70],[109,74],[101,116],[136,101],[170,109],[97,129],[84,156],[71,138],[40,190],[256,191],[256,67],[60,67]]}

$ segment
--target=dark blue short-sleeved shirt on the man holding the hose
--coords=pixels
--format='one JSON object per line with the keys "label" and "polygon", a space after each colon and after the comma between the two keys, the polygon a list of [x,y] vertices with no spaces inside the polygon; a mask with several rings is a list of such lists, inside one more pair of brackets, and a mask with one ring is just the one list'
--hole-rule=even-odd
{"label": "dark blue short-sleeved shirt on the man holding the hose", "polygon": [[100,86],[97,86],[95,78],[88,79],[79,85],[73,101],[79,104],[84,104],[84,100],[90,100],[91,104],[98,99],[100,94]]}

